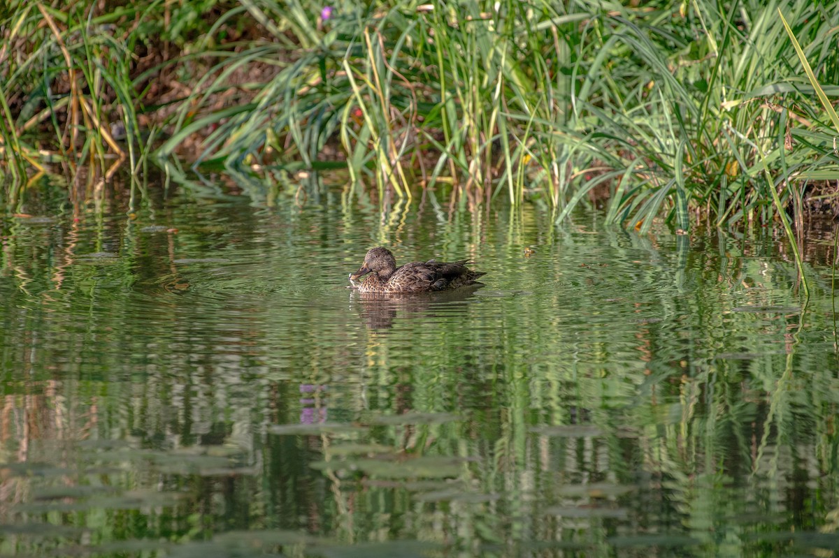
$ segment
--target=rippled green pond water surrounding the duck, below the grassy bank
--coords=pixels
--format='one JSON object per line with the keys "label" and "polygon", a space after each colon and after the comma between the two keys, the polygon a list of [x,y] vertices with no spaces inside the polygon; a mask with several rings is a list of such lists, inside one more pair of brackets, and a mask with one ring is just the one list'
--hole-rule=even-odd
{"label": "rippled green pond water surrounding the duck, below the grassy bank", "polygon": [[[30,209],[32,211],[32,209]],[[839,547],[830,235],[180,192],[8,216],[0,555]],[[467,257],[485,287],[347,275]]]}

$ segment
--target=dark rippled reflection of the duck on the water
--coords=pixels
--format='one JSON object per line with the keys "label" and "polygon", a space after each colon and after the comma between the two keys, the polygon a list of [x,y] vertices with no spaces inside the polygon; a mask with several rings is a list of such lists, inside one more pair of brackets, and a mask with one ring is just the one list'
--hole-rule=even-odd
{"label": "dark rippled reflection of the duck on the water", "polygon": [[453,308],[465,309],[468,299],[482,287],[482,283],[475,283],[440,292],[359,292],[352,289],[350,302],[367,328],[388,329],[393,327],[394,320],[400,315],[413,320],[434,317],[436,312],[444,310],[451,313]]}

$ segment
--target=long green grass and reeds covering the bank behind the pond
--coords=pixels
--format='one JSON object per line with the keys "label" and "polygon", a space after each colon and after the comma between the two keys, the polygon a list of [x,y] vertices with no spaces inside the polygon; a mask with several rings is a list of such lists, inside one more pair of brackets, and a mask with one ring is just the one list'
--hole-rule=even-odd
{"label": "long green grass and reeds covering the bank behind the pond", "polygon": [[[770,223],[807,180],[839,178],[836,88],[818,85],[839,78],[839,14],[818,5],[322,8],[9,3],[0,168],[22,184],[32,168],[107,179],[185,158],[269,175],[336,159],[383,201],[438,189],[562,220],[606,199],[608,220],[642,231],[693,215]],[[25,194],[4,191],[8,204]]]}

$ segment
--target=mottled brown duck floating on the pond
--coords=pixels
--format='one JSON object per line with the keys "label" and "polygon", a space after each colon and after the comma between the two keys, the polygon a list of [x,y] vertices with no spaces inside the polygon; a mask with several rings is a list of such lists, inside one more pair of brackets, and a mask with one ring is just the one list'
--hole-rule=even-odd
{"label": "mottled brown duck floating on the pond", "polygon": [[[358,292],[447,291],[473,285],[478,277],[486,275],[483,271],[472,271],[466,267],[468,263],[466,260],[451,263],[429,260],[397,267],[393,253],[380,246],[367,252],[362,268],[350,274],[350,282]],[[367,273],[371,275],[356,286],[354,281]]]}

